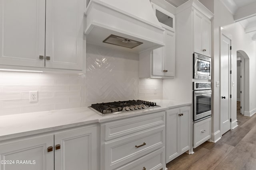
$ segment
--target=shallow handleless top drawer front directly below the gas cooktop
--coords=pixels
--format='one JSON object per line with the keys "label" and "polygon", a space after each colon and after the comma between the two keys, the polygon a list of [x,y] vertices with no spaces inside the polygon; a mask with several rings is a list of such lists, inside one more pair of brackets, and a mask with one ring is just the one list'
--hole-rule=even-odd
{"label": "shallow handleless top drawer front directly below the gas cooktop", "polygon": [[114,121],[103,125],[105,140],[115,139],[138,131],[149,129],[158,125],[164,125],[164,112],[132,117],[120,121]]}

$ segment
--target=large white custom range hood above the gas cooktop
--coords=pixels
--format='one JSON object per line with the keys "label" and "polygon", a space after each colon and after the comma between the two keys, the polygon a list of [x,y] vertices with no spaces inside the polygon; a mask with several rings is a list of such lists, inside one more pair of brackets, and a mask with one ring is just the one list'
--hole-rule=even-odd
{"label": "large white custom range hood above the gas cooktop", "polygon": [[150,0],[90,0],[86,43],[134,53],[164,46],[164,29]]}

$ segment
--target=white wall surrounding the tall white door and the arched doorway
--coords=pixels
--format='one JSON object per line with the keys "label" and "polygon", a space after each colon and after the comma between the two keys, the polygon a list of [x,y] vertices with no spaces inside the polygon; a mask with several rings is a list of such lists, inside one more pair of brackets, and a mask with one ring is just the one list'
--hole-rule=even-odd
{"label": "white wall surrounding the tall white door and the arched doorway", "polygon": [[[244,28],[240,23],[234,23],[232,14],[226,9],[220,0],[214,0],[214,72],[213,80],[213,116],[212,132],[217,133],[220,130],[220,88],[215,86],[216,81],[220,81],[220,27],[232,35],[232,121],[236,120],[236,51],[245,51],[250,58],[250,109],[256,108],[256,90],[252,88],[255,84],[255,49],[256,42],[251,40],[249,35],[244,33]],[[253,76],[252,76],[253,75]]]}

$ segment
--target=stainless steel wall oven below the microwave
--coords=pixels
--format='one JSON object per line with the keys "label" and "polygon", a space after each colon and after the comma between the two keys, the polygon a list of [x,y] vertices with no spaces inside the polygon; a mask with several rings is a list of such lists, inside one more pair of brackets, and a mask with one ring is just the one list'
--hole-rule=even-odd
{"label": "stainless steel wall oven below the microwave", "polygon": [[194,123],[211,116],[211,82],[194,82]]}

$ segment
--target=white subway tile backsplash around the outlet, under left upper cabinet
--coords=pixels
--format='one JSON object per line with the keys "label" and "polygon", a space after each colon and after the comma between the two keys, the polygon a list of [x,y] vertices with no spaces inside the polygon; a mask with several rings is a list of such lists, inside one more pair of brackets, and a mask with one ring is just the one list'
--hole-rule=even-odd
{"label": "white subway tile backsplash around the outlet, under left upper cabinet", "polygon": [[[84,106],[83,75],[0,72],[0,115]],[[38,91],[38,102],[29,102],[29,91]]]}

